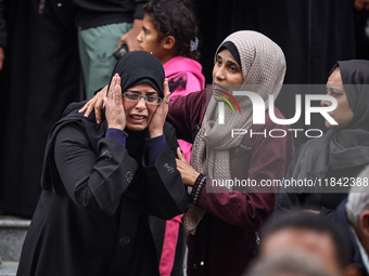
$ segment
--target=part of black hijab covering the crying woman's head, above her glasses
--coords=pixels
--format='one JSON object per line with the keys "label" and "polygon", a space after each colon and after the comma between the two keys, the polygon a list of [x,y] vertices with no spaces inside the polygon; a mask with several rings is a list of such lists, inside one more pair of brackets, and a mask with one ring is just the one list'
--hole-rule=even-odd
{"label": "part of black hijab covering the crying woman's head, above her glasses", "polygon": [[158,58],[152,53],[132,51],[125,54],[116,63],[109,83],[111,83],[115,74],[120,76],[122,92],[137,84],[149,82],[161,97],[164,96],[164,68]]}

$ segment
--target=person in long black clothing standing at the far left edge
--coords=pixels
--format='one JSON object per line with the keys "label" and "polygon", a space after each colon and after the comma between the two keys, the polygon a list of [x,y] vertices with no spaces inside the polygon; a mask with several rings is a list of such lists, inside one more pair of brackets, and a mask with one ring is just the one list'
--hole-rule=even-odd
{"label": "person in long black clothing standing at the far left edge", "polygon": [[80,101],[72,0],[3,0],[7,58],[0,71],[0,212],[30,219],[48,132]]}

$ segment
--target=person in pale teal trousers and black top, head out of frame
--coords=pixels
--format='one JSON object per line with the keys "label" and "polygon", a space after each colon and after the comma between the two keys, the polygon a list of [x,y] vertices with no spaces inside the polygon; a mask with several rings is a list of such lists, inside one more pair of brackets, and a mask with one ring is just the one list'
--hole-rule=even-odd
{"label": "person in pale teal trousers and black top, head out of frame", "polygon": [[116,63],[112,55],[118,45],[139,50],[136,40],[142,28],[147,0],[72,0],[76,5],[78,47],[86,97],[107,84]]}

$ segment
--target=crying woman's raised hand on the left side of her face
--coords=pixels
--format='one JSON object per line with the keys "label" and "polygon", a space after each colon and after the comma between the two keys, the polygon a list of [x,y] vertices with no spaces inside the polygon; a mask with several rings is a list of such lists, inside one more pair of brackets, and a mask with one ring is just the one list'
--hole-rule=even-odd
{"label": "crying woman's raised hand on the left side of her face", "polygon": [[117,74],[113,77],[104,103],[107,128],[124,130],[126,128],[126,114],[122,100],[120,77]]}

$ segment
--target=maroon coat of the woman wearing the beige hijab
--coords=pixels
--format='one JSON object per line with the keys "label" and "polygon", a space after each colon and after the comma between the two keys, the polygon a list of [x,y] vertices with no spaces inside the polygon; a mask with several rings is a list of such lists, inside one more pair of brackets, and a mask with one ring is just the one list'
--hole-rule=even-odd
{"label": "maroon coat of the woman wearing the beige hijab", "polygon": [[[203,121],[206,96],[201,92],[178,97],[169,104],[168,120],[176,127],[177,135],[193,142]],[[209,98],[209,95],[207,96]],[[276,108],[276,116],[283,116]],[[287,131],[284,137],[245,135],[242,143],[230,149],[231,178],[255,180],[281,180],[293,157],[293,137],[288,126],[273,123],[266,113],[266,123],[252,127],[253,132],[271,129]],[[192,139],[192,140],[191,140]],[[195,235],[188,236],[188,275],[242,275],[255,254],[256,232],[273,212],[278,187],[271,193],[258,187],[239,188],[236,193],[207,193],[205,187],[198,206],[206,211]],[[266,192],[266,189],[264,189]]]}

